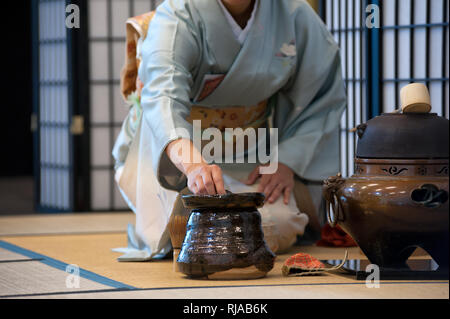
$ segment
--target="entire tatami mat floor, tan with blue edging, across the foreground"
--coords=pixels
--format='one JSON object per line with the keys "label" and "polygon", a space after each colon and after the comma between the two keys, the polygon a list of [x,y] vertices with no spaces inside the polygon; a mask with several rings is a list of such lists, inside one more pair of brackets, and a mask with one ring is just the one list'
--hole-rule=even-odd
{"label": "entire tatami mat floor, tan with blue edging, across the foreground", "polygon": [[[22,219],[22,223],[20,220]],[[112,248],[126,247],[133,214],[0,218],[0,296],[25,298],[449,298],[448,281],[382,281],[367,288],[351,276],[283,277],[290,255],[340,259],[343,248],[294,247],[277,257],[266,278],[248,281],[188,279],[174,273],[172,260],[122,263]],[[34,234],[26,235],[27,232]],[[6,235],[6,234],[15,235]],[[3,234],[3,235],[1,235]],[[46,234],[46,235],[42,235]],[[422,252],[423,253],[423,252]],[[422,254],[421,252],[416,253]],[[358,248],[350,259],[364,258]],[[30,261],[27,259],[34,259]],[[80,268],[80,288],[67,288],[69,264]]]}

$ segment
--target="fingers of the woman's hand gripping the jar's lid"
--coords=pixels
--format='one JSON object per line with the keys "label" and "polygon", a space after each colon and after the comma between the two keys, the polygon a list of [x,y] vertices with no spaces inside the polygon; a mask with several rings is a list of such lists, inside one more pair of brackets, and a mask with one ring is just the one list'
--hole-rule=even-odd
{"label": "fingers of the woman's hand gripping the jar's lid", "polygon": [[224,195],[222,169],[205,163],[192,164],[186,169],[188,188],[194,194]]}

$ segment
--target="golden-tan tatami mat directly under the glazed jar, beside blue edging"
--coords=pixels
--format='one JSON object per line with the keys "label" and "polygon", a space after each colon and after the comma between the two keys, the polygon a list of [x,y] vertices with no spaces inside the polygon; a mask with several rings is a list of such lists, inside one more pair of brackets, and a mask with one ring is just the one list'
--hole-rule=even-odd
{"label": "golden-tan tatami mat directly under the glazed jar, beside blue edging", "polygon": [[[295,247],[290,254],[278,256],[274,269],[266,278],[258,280],[194,280],[172,271],[172,260],[153,262],[117,262],[120,254],[111,251],[114,247],[126,247],[125,234],[49,235],[32,237],[3,237],[2,240],[42,255],[76,264],[80,268],[100,274],[136,288],[211,287],[279,285],[300,283],[349,283],[352,278],[337,275],[308,278],[283,277],[281,267],[284,260],[296,251],[310,252],[317,258],[342,258],[344,249]],[[352,248],[349,258],[361,257],[359,249]]]}

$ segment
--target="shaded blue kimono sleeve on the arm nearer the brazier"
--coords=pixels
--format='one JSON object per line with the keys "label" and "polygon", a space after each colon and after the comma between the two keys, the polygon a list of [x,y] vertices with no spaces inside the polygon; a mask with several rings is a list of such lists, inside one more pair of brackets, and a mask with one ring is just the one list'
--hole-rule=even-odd
{"label": "shaded blue kimono sleeve on the arm nearer the brazier", "polygon": [[305,4],[296,17],[297,64],[278,94],[279,162],[301,178],[321,181],[339,169],[339,123],[346,108],[340,52]]}

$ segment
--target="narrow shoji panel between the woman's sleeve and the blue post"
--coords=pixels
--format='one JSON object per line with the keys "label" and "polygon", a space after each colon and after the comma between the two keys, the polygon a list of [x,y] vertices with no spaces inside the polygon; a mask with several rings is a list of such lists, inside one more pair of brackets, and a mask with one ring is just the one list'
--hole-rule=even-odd
{"label": "narrow shoji panel between the woman's sleeve and the blue post", "polygon": [[356,136],[352,128],[367,120],[366,31],[364,0],[322,1],[322,17],[341,48],[342,76],[348,107],[341,119],[340,166],[343,176],[353,174]]}

